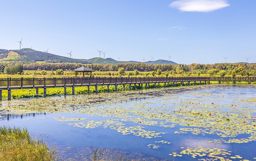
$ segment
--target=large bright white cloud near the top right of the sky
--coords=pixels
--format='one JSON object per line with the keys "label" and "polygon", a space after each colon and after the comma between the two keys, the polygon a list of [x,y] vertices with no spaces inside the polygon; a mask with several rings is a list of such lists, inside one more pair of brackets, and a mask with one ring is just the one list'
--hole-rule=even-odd
{"label": "large bright white cloud near the top right of the sky", "polygon": [[178,0],[169,4],[181,12],[211,12],[228,6],[226,0]]}

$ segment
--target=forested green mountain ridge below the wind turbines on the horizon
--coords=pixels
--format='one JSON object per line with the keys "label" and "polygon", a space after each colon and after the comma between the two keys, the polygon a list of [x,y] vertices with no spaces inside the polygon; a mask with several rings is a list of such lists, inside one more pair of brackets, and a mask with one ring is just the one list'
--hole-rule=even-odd
{"label": "forested green mountain ridge below the wind turbines on the horizon", "polygon": [[[21,50],[5,50],[0,49],[0,58],[6,58],[8,53],[13,51],[18,53],[18,57],[15,59],[16,61],[24,61],[26,63],[34,63],[37,61],[45,61],[45,62],[52,62],[52,63],[82,63],[82,64],[118,64],[118,63],[139,63],[139,61],[117,61],[112,58],[91,58],[91,59],[73,59],[68,58],[65,56],[58,56],[47,52],[37,51],[30,48],[23,48]],[[0,59],[0,60],[1,60]],[[8,60],[8,59],[7,59]],[[7,61],[6,60],[6,61]],[[174,64],[177,63],[168,60],[156,60],[156,61],[146,61],[146,64]]]}

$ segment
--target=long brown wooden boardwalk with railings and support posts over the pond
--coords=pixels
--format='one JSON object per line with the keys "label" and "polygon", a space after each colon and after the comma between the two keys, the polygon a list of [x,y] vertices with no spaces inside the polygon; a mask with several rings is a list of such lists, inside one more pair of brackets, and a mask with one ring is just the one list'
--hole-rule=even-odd
{"label": "long brown wooden boardwalk with railings and support posts over the pond", "polygon": [[255,81],[255,77],[115,77],[115,78],[106,78],[106,77],[96,77],[96,78],[79,78],[79,77],[71,77],[71,78],[2,78],[0,79],[0,100],[2,99],[2,90],[8,90],[8,100],[11,99],[11,90],[12,89],[36,89],[36,94],[38,94],[38,89],[44,89],[44,96],[46,96],[47,88],[56,88],[63,87],[64,94],[66,93],[66,87],[72,87],[72,94],[74,94],[74,87],[78,86],[87,86],[88,90],[90,86],[95,86],[96,92],[97,86],[108,86],[115,85],[115,91],[117,91],[117,85],[129,84],[130,90],[132,84],[139,84],[143,88],[143,84],[147,85],[149,83],[176,83],[188,82],[190,85],[191,81]]}

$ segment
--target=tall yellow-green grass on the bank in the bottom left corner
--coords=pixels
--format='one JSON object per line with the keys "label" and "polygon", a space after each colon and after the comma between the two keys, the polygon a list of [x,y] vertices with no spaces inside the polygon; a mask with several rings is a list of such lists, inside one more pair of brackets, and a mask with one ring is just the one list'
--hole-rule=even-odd
{"label": "tall yellow-green grass on the bank in the bottom left corner", "polygon": [[25,127],[0,127],[1,161],[51,161],[54,157],[54,149],[42,140],[33,140]]}

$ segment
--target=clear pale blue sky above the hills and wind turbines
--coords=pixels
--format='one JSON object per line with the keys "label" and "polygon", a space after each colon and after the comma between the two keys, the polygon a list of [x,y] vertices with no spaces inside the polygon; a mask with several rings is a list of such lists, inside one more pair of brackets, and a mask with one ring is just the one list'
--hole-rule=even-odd
{"label": "clear pale blue sky above the hills and wind turbines", "polygon": [[[0,49],[74,59],[256,62],[255,0],[1,0]],[[101,57],[104,55],[101,54]]]}

